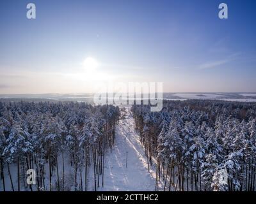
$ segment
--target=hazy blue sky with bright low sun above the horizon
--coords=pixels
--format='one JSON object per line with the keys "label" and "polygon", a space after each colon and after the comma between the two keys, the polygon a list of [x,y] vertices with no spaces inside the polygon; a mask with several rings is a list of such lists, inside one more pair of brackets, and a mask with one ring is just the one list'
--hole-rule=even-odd
{"label": "hazy blue sky with bright low sun above the horizon", "polygon": [[256,92],[255,9],[255,0],[1,0],[0,94],[93,92],[105,81]]}

